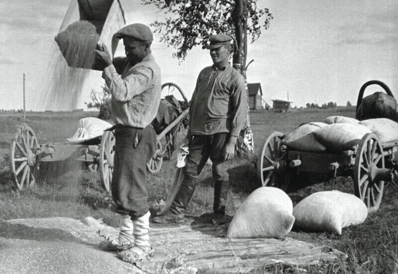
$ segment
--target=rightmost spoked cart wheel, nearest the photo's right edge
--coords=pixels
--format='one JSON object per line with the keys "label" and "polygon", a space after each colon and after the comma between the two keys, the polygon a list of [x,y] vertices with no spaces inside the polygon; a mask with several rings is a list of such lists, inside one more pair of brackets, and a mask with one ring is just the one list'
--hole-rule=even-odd
{"label": "rightmost spoked cart wheel, nearest the photo's right edge", "polygon": [[384,181],[377,179],[377,170],[384,168],[383,148],[379,138],[366,134],[358,147],[355,158],[355,195],[368,207],[368,212],[376,211],[382,201]]}

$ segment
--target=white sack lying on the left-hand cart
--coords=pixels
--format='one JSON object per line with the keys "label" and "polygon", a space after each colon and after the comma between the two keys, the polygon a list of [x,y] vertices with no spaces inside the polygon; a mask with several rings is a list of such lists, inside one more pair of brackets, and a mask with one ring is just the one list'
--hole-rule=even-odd
{"label": "white sack lying on the left-hand cart", "polygon": [[96,117],[82,118],[77,123],[75,134],[67,141],[80,141],[101,136],[105,129],[112,127],[108,122]]}

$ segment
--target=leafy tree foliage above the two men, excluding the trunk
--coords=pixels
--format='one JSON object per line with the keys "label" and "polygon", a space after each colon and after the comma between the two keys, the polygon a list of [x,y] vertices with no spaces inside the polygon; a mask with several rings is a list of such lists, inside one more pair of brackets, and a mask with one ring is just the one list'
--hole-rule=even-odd
{"label": "leafy tree foliage above the two men, excluding the trunk", "polygon": [[[261,29],[268,29],[273,19],[268,8],[259,9],[257,0],[246,0],[248,11],[247,32],[251,42],[258,39]],[[173,57],[184,60],[187,52],[201,45],[204,49],[210,35],[226,33],[236,37],[234,0],[142,0],[153,4],[170,16],[166,21],[151,24],[161,34],[160,41],[177,49]],[[243,20],[243,19],[242,19]]]}

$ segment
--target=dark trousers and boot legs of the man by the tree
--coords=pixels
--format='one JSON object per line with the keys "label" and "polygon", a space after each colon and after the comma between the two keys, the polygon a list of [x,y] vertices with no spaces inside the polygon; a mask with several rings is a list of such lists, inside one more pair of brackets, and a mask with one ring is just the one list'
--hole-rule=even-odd
{"label": "dark trousers and boot legs of the man by the tree", "polygon": [[224,146],[229,138],[229,133],[217,133],[213,135],[194,135],[189,145],[187,164],[184,167],[185,179],[170,207],[173,214],[182,214],[194,194],[197,180],[207,159],[213,162],[212,175],[214,179],[214,203],[215,213],[225,213],[225,204],[229,191],[229,178],[227,164],[223,160]]}

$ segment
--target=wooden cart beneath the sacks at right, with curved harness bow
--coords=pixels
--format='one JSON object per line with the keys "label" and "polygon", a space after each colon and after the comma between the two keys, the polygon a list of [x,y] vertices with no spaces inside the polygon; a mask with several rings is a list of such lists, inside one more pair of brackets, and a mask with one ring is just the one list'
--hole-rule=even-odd
{"label": "wooden cart beneath the sacks at right, with curved harness bow", "polygon": [[[393,96],[382,82],[367,82],[359,92],[357,109],[366,87],[373,84],[380,85],[387,94]],[[330,178],[351,176],[355,195],[372,212],[380,206],[384,183],[394,183],[398,179],[398,140],[381,143],[375,134],[368,133],[363,136],[355,150],[336,154],[293,150],[283,144],[285,137],[280,132],[272,133],[259,153],[257,176],[263,186],[276,186],[286,191],[292,176],[302,173],[323,174]]]}

